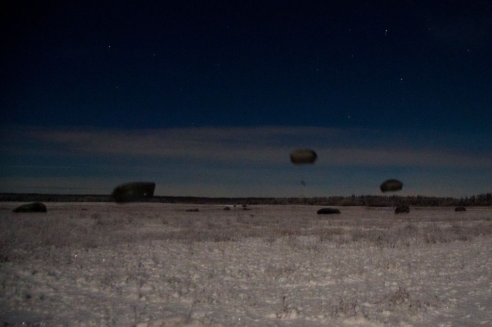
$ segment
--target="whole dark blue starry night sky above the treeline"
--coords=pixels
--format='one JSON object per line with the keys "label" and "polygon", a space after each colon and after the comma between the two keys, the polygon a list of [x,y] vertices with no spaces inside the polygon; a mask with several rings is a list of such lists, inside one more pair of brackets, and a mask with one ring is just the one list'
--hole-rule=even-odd
{"label": "whole dark blue starry night sky above the treeline", "polygon": [[3,2],[0,192],[492,191],[490,1]]}

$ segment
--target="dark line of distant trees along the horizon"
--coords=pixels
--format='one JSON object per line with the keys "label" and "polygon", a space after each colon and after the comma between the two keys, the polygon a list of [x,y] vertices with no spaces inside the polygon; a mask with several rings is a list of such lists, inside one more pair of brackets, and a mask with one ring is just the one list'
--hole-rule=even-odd
{"label": "dark line of distant trees along the horizon", "polygon": [[[19,202],[112,202],[110,195],[90,194],[37,194],[0,193],[0,201]],[[456,207],[492,206],[492,193],[465,196],[464,198],[437,196],[355,195],[325,197],[194,197],[154,196],[139,202],[188,203],[188,204],[302,204],[316,206],[365,206],[365,207]]]}

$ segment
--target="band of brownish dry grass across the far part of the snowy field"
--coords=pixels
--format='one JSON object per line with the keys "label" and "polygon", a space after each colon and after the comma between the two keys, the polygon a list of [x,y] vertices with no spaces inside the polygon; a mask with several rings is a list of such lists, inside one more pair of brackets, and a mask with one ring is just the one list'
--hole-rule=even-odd
{"label": "band of brownish dry grass across the far part of the snowy field", "polygon": [[[344,208],[340,215],[326,216],[313,215],[316,208],[308,206],[252,206],[249,211],[201,206],[199,212],[185,212],[172,205],[166,208],[168,211],[162,213],[146,213],[145,206],[58,213],[55,209],[48,214],[13,214],[3,210],[0,261],[35,256],[54,263],[69,263],[69,256],[64,253],[72,249],[159,240],[193,244],[237,242],[253,237],[269,244],[286,240],[292,249],[316,253],[321,245],[330,243],[365,242],[395,248],[466,242],[492,234],[490,209],[483,209],[480,214],[470,214],[471,210],[455,214],[452,209],[417,209],[396,217],[373,208]],[[301,241],[306,237],[307,241]]]}

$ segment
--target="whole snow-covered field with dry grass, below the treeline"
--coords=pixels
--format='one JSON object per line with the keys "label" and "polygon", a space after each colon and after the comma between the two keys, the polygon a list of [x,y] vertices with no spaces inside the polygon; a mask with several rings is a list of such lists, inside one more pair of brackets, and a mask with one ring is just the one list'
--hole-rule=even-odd
{"label": "whole snow-covered field with dry grass, below the treeline", "polygon": [[491,208],[19,204],[1,326],[492,325]]}

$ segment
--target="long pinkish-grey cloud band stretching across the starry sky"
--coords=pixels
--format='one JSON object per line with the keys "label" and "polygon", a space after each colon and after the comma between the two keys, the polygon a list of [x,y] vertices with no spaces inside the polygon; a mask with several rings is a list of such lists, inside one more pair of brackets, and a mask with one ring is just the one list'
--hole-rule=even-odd
{"label": "long pinkish-grey cloud band stretching across the starry sky", "polygon": [[[439,140],[361,129],[317,127],[222,127],[175,129],[44,129],[3,131],[3,151],[65,157],[140,157],[221,164],[288,163],[298,147],[314,149],[323,166],[490,165],[490,152],[470,152]],[[11,140],[10,142],[8,140]]]}

